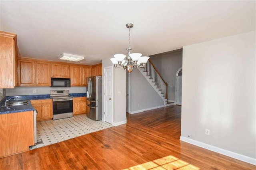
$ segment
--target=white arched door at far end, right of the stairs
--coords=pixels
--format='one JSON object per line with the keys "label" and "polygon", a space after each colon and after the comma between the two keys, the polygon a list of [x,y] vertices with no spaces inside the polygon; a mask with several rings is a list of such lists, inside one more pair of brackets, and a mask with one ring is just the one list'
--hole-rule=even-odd
{"label": "white arched door at far end, right of the stairs", "polygon": [[182,94],[182,67],[180,67],[176,73],[176,93],[175,93],[176,105],[181,105],[181,94]]}

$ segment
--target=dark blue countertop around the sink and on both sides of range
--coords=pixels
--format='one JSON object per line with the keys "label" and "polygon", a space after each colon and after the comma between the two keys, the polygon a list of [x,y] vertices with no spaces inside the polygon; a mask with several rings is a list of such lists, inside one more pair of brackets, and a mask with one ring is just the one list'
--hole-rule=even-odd
{"label": "dark blue countertop around the sink and on both sides of range", "polygon": [[[70,93],[72,97],[86,97],[86,93]],[[10,101],[18,101],[18,100],[28,100],[29,105],[22,105],[22,106],[12,106],[6,107],[3,106],[4,102],[7,99],[11,99]],[[16,112],[24,112],[24,111],[34,111],[34,107],[31,105],[30,100],[42,100],[42,99],[52,99],[50,95],[21,95],[21,96],[6,96],[0,102],[0,114],[6,113],[16,113]]]}

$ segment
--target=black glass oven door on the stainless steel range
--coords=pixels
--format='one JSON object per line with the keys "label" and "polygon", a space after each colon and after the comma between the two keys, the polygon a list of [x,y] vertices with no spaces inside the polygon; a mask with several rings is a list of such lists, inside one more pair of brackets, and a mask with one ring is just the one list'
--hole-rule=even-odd
{"label": "black glass oven door on the stainless steel range", "polygon": [[62,113],[73,113],[73,99],[53,99],[52,111],[53,115]]}

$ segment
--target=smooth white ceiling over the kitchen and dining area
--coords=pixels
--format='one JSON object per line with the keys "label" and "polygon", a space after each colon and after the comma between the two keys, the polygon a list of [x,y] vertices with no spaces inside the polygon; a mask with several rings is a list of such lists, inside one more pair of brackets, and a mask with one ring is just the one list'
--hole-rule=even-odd
{"label": "smooth white ceiling over the kitchen and dining area", "polygon": [[19,55],[93,65],[132,52],[154,55],[255,30],[255,1],[1,1],[0,30],[17,34]]}

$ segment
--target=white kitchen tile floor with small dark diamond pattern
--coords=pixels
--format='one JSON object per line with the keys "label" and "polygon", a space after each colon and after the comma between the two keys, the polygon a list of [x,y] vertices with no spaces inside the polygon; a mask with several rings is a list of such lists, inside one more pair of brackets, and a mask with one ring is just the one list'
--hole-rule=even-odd
{"label": "white kitchen tile floor with small dark diamond pattern", "polygon": [[111,124],[104,121],[94,121],[88,118],[86,115],[37,122],[37,140],[42,139],[43,143],[32,146],[31,149],[58,143],[110,127],[112,127]]}

